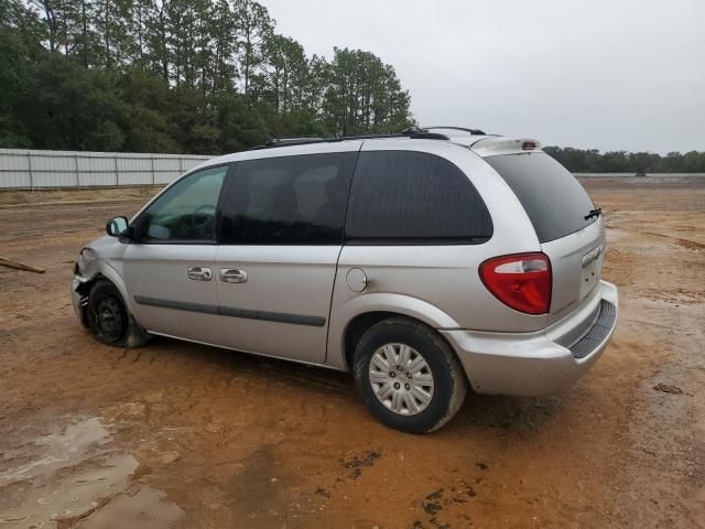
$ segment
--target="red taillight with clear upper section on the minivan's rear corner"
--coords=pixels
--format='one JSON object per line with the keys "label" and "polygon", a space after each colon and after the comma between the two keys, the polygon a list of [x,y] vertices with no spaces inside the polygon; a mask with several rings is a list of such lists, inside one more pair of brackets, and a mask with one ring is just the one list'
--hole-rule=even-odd
{"label": "red taillight with clear upper section on the minivan's rear corner", "polygon": [[496,257],[480,264],[495,298],[519,312],[545,314],[551,305],[551,261],[543,253]]}

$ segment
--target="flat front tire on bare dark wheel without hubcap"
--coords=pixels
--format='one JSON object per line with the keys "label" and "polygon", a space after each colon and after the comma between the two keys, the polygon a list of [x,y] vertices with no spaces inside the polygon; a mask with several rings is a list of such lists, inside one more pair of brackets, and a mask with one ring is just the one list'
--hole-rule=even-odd
{"label": "flat front tire on bare dark wheel without hubcap", "polygon": [[150,338],[107,279],[97,281],[88,294],[88,328],[98,342],[113,347],[140,347]]}

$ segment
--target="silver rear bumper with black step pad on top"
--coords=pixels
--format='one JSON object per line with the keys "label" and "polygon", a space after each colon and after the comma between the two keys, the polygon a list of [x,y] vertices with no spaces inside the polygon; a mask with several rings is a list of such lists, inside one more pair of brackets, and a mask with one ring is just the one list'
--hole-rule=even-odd
{"label": "silver rear bumper with black step pad on top", "polygon": [[[595,290],[583,307],[541,332],[442,333],[477,392],[554,393],[577,381],[595,364],[617,326],[617,288],[600,281]],[[576,330],[582,332],[576,335]]]}

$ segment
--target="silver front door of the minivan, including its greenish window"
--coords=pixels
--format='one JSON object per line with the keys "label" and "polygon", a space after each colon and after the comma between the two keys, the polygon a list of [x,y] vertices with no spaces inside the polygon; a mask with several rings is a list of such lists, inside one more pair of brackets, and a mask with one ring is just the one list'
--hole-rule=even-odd
{"label": "silver front door of the minivan, including its greenish window", "polygon": [[135,222],[123,276],[138,322],[148,331],[212,342],[216,212],[228,165],[196,171],[167,188]]}

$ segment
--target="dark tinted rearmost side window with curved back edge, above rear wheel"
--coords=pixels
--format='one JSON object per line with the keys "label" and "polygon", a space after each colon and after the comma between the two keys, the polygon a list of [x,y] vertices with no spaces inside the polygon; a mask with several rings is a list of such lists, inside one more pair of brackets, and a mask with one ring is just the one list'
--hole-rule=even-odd
{"label": "dark tinted rearmost side window with curved back edge, above rear wheel", "polygon": [[479,244],[492,219],[455,164],[424,152],[361,152],[345,226],[349,244]]}

